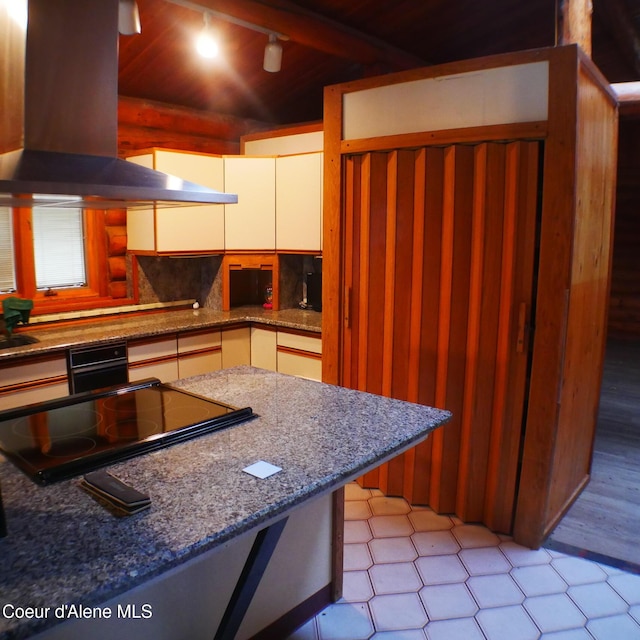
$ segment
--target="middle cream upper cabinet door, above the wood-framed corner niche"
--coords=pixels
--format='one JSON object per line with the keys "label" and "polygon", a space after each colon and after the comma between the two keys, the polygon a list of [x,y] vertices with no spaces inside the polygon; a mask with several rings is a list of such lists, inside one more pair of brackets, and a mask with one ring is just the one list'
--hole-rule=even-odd
{"label": "middle cream upper cabinet door, above the wood-framed corner niche", "polygon": [[276,248],[276,159],[225,157],[224,187],[238,194],[224,206],[227,251]]}

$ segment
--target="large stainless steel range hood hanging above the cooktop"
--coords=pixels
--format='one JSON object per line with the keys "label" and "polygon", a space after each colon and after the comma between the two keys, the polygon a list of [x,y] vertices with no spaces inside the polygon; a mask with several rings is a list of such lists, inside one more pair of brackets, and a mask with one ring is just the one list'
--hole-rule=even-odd
{"label": "large stainless steel range hood hanging above the cooktop", "polygon": [[0,206],[238,201],[117,157],[118,0],[28,2],[26,31],[0,6]]}

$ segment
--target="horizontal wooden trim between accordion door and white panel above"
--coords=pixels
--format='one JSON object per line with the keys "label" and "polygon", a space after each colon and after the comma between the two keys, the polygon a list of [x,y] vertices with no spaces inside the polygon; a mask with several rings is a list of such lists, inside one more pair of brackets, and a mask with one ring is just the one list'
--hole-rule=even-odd
{"label": "horizontal wooden trim between accordion door and white panel above", "polygon": [[366,151],[389,151],[415,147],[450,145],[465,142],[487,142],[508,140],[539,140],[548,135],[546,121],[518,122],[515,124],[497,124],[464,129],[443,129],[441,131],[423,131],[403,133],[378,138],[360,138],[343,140],[340,152],[364,153]]}

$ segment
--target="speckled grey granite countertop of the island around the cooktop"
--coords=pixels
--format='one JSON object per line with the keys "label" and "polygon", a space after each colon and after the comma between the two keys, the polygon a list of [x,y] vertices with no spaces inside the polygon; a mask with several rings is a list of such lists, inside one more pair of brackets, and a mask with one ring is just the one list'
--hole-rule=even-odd
{"label": "speckled grey granite countertop of the island around the cooktop", "polygon": [[[257,418],[110,471],[147,492],[149,511],[115,518],[78,479],[41,487],[0,456],[8,536],[0,539],[0,612],[6,603],[95,606],[292,507],[333,491],[422,440],[450,414],[252,367],[174,386]],[[242,471],[265,460],[282,471]],[[23,638],[54,620],[6,620],[0,638]]]}

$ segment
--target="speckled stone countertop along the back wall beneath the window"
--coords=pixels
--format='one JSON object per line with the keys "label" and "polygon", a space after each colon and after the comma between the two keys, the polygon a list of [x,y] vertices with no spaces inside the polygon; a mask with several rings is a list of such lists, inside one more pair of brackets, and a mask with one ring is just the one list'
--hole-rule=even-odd
{"label": "speckled stone countertop along the back wall beneath the window", "polygon": [[14,358],[41,355],[80,345],[146,338],[179,331],[223,327],[238,322],[254,322],[275,327],[313,331],[321,330],[322,315],[302,309],[265,310],[241,307],[231,311],[183,309],[144,314],[121,314],[109,319],[78,322],[54,328],[26,328],[25,333],[38,338],[35,344],[0,350],[0,366]]}

